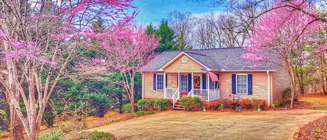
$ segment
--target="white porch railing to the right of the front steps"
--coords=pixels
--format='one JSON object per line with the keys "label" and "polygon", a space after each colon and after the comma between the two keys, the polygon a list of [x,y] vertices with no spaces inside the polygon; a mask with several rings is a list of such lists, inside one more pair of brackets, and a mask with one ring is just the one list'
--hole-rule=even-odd
{"label": "white porch railing to the right of the front steps", "polygon": [[220,98],[220,91],[219,89],[193,89],[191,92],[190,92],[190,95],[192,97],[199,97],[201,98],[202,100],[205,100],[205,101],[213,101],[213,100],[219,100]]}

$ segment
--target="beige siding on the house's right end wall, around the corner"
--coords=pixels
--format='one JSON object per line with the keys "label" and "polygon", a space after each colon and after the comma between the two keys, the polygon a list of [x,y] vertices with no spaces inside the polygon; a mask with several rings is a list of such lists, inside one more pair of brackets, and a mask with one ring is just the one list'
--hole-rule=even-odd
{"label": "beige siding on the house's right end wall, around the corner", "polygon": [[282,92],[289,86],[289,73],[285,68],[278,66],[276,72],[273,72],[273,102],[282,101]]}

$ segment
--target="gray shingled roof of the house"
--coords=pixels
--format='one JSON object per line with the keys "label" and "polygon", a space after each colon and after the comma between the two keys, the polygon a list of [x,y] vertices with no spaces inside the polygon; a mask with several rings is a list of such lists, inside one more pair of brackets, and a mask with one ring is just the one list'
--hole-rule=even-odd
{"label": "gray shingled roof of the house", "polygon": [[267,59],[271,62],[258,62],[243,59],[241,57],[242,54],[248,53],[243,47],[165,51],[149,61],[140,71],[160,70],[162,66],[174,59],[181,52],[185,52],[185,54],[188,54],[199,63],[213,70],[276,70],[276,63],[278,61],[275,56],[267,56]]}

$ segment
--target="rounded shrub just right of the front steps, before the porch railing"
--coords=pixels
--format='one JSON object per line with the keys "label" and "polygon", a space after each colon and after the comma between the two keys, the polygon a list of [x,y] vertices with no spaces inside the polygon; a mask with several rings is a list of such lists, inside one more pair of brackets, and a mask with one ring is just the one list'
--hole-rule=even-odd
{"label": "rounded shrub just right of the front steps, before the porch railing", "polygon": [[192,111],[195,108],[201,107],[202,101],[199,97],[185,96],[181,98],[181,104],[187,111]]}

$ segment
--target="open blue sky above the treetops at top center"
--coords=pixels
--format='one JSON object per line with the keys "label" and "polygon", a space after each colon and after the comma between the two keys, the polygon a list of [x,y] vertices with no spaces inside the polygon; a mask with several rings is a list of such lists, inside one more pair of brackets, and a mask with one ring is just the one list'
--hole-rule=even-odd
{"label": "open blue sky above the treetops at top center", "polygon": [[139,14],[135,18],[138,24],[160,23],[162,18],[167,17],[167,13],[174,10],[190,12],[195,17],[223,10],[209,7],[209,0],[135,0],[133,3],[139,8]]}

